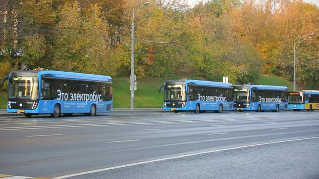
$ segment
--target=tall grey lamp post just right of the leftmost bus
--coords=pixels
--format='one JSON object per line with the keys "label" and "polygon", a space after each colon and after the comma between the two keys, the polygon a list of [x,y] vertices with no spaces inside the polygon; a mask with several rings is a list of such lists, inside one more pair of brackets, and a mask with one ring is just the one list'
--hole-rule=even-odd
{"label": "tall grey lamp post just right of the leftmost bus", "polygon": [[[141,5],[139,8],[135,10],[136,5]],[[132,26],[131,26],[131,110],[134,110],[134,36],[135,36],[135,25],[134,25],[134,13],[135,11],[139,10],[140,8],[149,5],[149,2],[145,2],[143,4],[143,0],[137,2],[132,9]]]}

